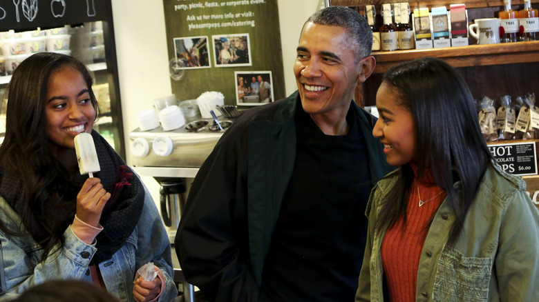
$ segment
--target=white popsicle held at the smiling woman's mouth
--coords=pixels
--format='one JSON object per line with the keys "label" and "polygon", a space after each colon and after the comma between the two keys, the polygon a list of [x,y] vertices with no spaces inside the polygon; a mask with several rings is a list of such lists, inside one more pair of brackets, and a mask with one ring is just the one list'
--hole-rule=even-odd
{"label": "white popsicle held at the smiling woman's mouth", "polygon": [[91,134],[81,132],[75,136],[75,152],[77,152],[77,161],[79,162],[81,175],[88,174],[89,177],[93,177],[93,172],[99,172],[101,170]]}

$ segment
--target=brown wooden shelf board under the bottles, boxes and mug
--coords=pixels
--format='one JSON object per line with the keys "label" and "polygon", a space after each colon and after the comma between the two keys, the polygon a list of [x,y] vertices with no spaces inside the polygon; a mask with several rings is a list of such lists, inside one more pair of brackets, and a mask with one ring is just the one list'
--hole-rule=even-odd
{"label": "brown wooden shelf board under the bottles, boxes and mug", "polygon": [[437,57],[453,67],[490,66],[539,61],[539,41],[471,45],[424,50],[372,52],[376,59],[374,73],[383,73],[401,61]]}

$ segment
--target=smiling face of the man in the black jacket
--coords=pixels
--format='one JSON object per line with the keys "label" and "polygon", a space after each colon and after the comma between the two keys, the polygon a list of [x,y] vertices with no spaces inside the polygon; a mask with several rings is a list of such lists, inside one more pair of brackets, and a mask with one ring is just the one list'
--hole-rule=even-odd
{"label": "smiling face of the man in the black jacket", "polygon": [[305,24],[294,63],[305,112],[346,116],[363,66],[347,47],[347,36],[339,26]]}

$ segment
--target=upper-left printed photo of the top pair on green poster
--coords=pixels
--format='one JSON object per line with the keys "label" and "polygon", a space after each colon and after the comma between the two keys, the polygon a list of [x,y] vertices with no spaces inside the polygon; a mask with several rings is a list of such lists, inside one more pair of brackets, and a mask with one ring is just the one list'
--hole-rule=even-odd
{"label": "upper-left printed photo of the top pair on green poster", "polygon": [[174,38],[177,69],[209,68],[208,37]]}

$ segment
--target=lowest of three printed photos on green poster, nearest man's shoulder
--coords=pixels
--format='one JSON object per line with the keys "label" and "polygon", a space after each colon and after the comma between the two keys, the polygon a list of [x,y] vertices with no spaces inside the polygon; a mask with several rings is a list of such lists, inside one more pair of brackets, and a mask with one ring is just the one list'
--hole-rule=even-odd
{"label": "lowest of three printed photos on green poster, nearest man's shoulder", "polygon": [[271,71],[236,71],[234,76],[238,106],[264,105],[274,101]]}

